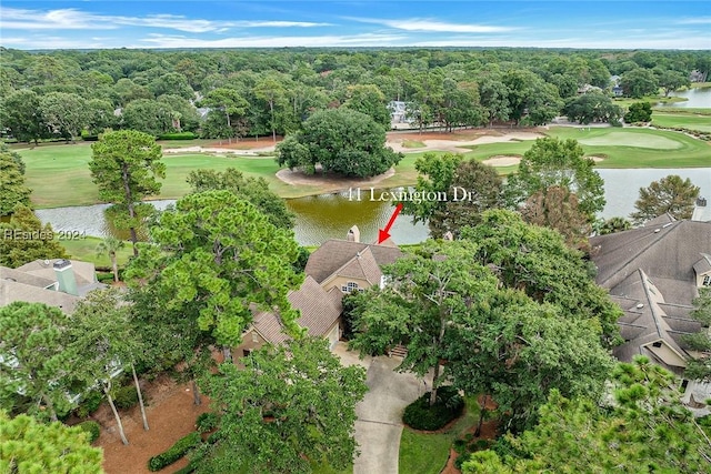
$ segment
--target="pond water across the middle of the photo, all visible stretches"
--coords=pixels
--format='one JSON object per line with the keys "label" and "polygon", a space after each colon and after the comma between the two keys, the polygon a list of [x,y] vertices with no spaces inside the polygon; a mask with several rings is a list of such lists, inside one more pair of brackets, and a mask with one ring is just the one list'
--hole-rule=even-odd
{"label": "pond water across the middle of the photo, all visible stretches", "polygon": [[[701,188],[701,195],[711,198],[711,168],[695,169],[628,169],[597,170],[604,180],[607,205],[601,218],[628,216],[634,210],[639,189],[648,186],[669,174],[689,178]],[[363,190],[365,191],[365,189]],[[387,191],[387,190],[382,190]],[[382,191],[375,191],[378,199]],[[166,209],[174,200],[151,201],[159,210]],[[297,214],[294,229],[297,241],[302,245],[319,245],[328,239],[346,239],[348,230],[357,224],[361,241],[372,242],[378,229],[383,228],[394,206],[389,201],[371,201],[363,194],[361,201],[350,200],[348,192],[322,194],[287,200],[287,206]],[[49,222],[56,231],[79,231],[87,235],[102,236],[113,230],[104,216],[109,204],[38,210],[42,222]],[[390,230],[393,241],[399,244],[418,243],[428,238],[425,224],[412,224],[411,218],[400,215]]]}

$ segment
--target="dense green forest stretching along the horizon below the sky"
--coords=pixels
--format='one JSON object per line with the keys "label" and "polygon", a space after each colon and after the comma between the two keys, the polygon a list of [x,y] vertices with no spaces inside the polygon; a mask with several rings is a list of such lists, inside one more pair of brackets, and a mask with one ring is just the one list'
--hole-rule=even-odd
{"label": "dense green forest stretching along the horizon below the sky", "polygon": [[[569,113],[614,121],[624,95],[689,85],[708,51],[531,49],[59,50],[1,49],[0,123],[19,141],[132,129],[156,137],[287,135],[344,107],[390,128],[391,101],[419,128],[537,125]],[[592,87],[592,89],[588,88]],[[580,94],[581,88],[588,93]]]}

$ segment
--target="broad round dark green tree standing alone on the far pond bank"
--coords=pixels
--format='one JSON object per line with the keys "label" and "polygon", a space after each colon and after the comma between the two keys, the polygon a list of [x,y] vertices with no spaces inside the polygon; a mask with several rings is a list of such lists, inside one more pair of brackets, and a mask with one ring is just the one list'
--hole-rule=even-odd
{"label": "broad round dark green tree standing alone on the far pond bank", "polygon": [[385,148],[385,130],[364,113],[349,109],[316,112],[303,129],[277,147],[278,162],[314,173],[332,171],[368,178],[384,173],[401,159]]}

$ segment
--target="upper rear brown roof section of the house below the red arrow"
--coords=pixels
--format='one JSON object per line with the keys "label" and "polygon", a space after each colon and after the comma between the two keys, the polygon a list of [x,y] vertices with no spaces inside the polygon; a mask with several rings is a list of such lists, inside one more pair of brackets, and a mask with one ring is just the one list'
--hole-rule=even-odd
{"label": "upper rear brown roof section of the house below the red arrow", "polygon": [[[400,249],[390,244],[378,245],[331,239],[326,241],[323,245],[317,249],[309,256],[304,272],[307,275],[312,276],[318,283],[322,283],[337,270],[343,268],[347,263],[357,258],[359,253],[362,255],[365,250],[371,252],[374,263],[379,268],[391,264],[403,255]],[[353,271],[353,269],[350,270]],[[368,270],[368,272],[371,272],[371,270]],[[370,276],[373,276],[374,272],[369,274]],[[377,280],[380,280],[380,276],[378,276]]]}

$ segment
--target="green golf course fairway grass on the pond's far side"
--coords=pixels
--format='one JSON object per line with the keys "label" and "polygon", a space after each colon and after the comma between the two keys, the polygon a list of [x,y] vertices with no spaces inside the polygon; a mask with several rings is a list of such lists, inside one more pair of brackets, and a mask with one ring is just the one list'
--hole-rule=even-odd
{"label": "green golf course fairway grass on the pond's far side", "polygon": [[[685,115],[684,115],[685,117]],[[691,115],[691,119],[693,115]],[[701,118],[703,120],[703,118]],[[664,119],[662,119],[664,120]],[[674,118],[674,120],[678,120]],[[698,123],[698,121],[697,121]],[[592,128],[553,127],[545,132],[560,139],[575,139],[589,157],[604,157],[599,168],[693,168],[711,165],[711,144],[683,133],[644,128]],[[468,159],[485,160],[497,155],[521,157],[532,140],[469,145],[463,154]],[[89,173],[91,148],[87,143],[41,145],[21,149],[27,165],[27,182],[32,189],[32,202],[37,208],[93,204],[99,201],[96,184]],[[442,152],[435,152],[442,153]],[[423,151],[407,153],[395,167],[395,174],[379,183],[383,188],[412,185],[417,182],[414,162]],[[189,190],[188,173],[200,168],[223,171],[236,168],[248,177],[262,177],[269,188],[282,198],[299,198],[320,194],[323,186],[290,185],[276,177],[279,167],[272,157],[240,157],[228,153],[167,154],[166,179],[161,193],[152,199],[177,199]],[[508,174],[515,167],[497,168]]]}

